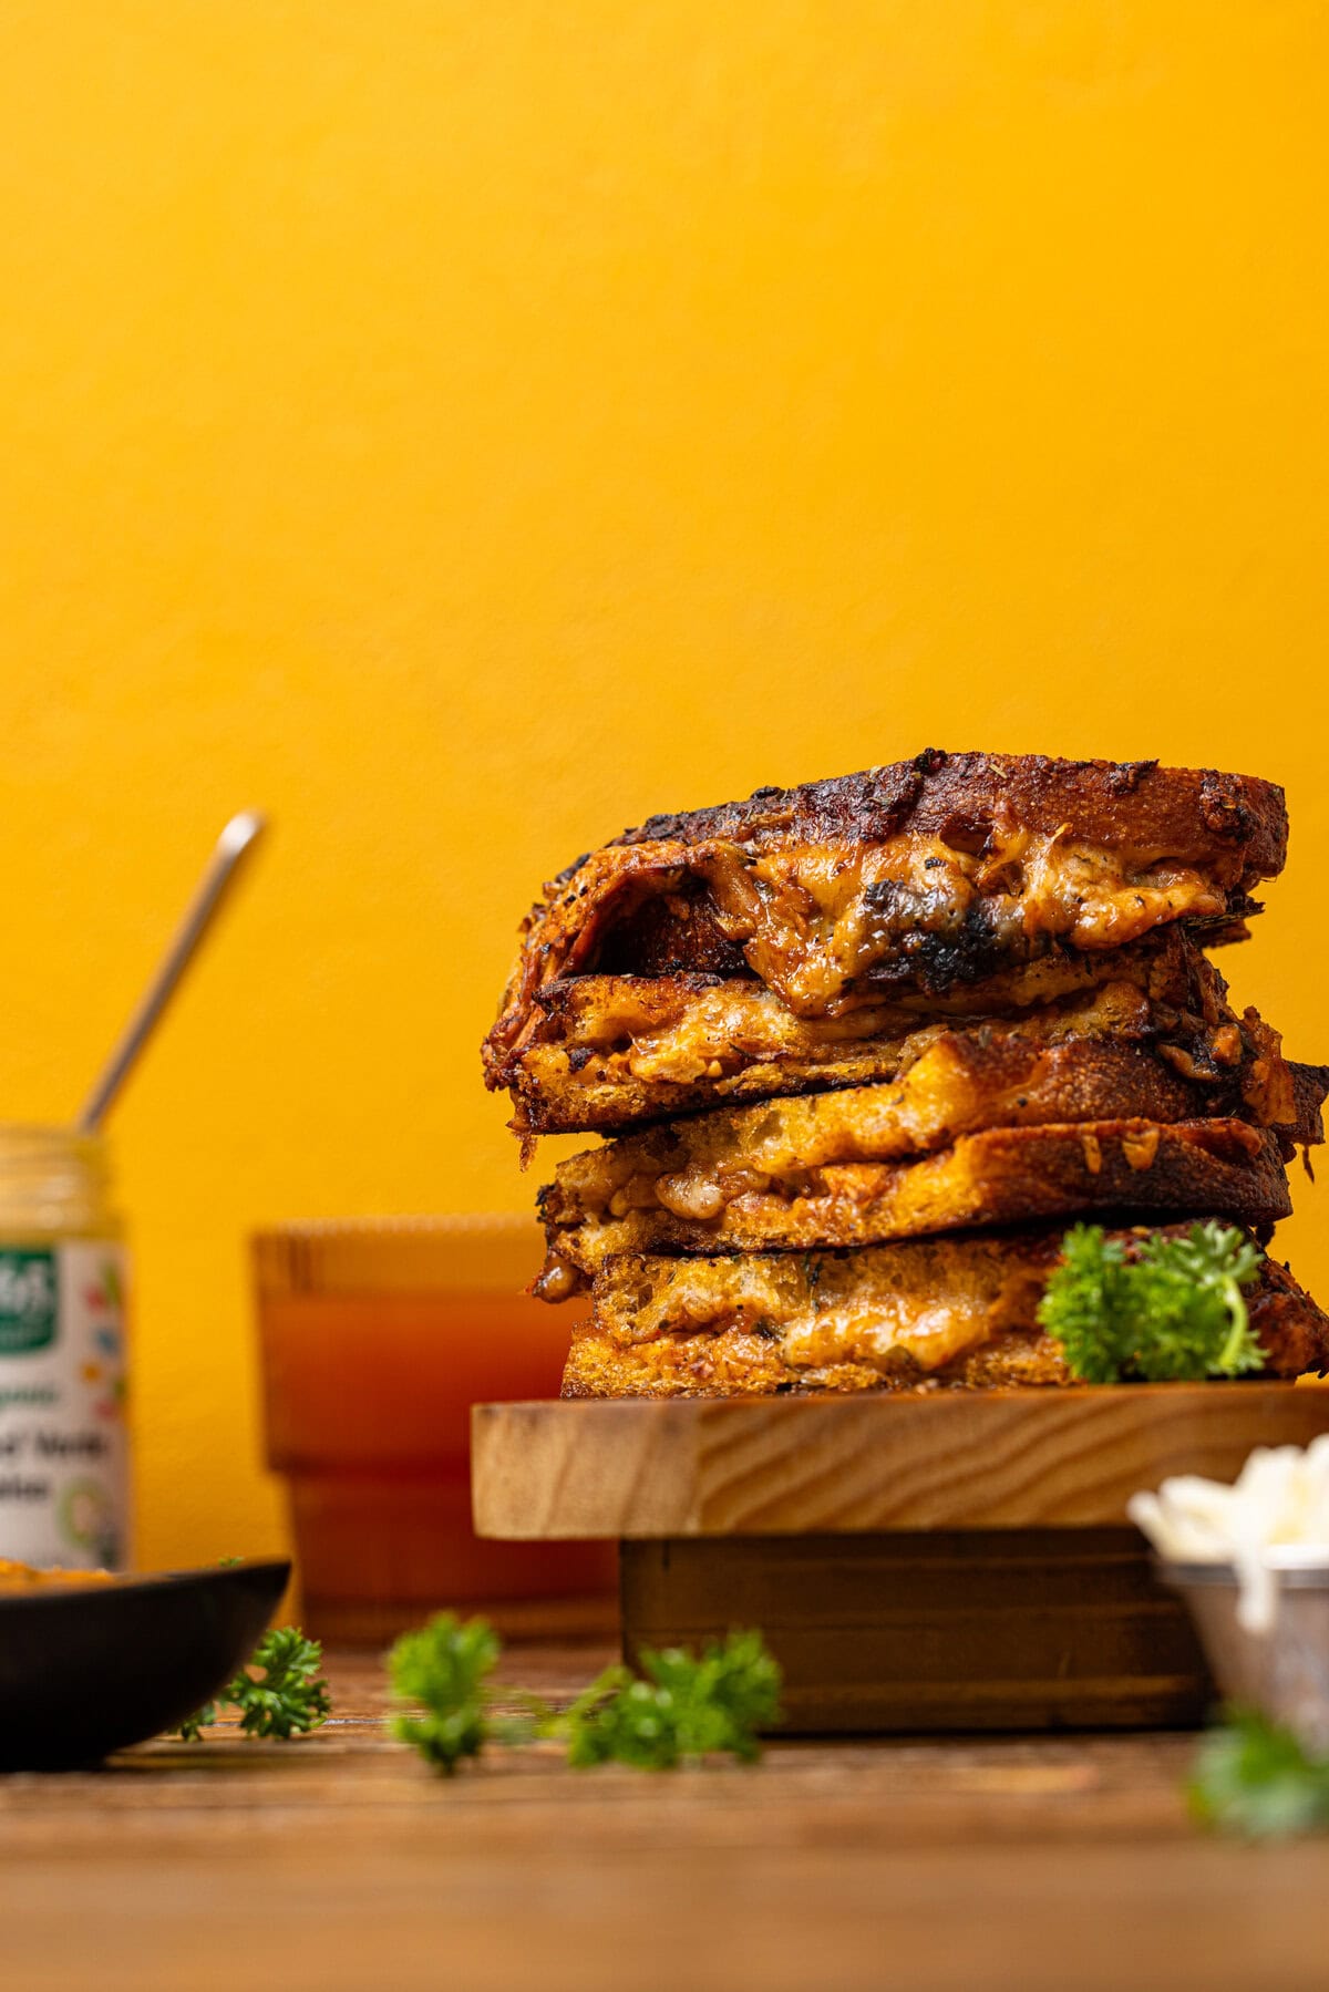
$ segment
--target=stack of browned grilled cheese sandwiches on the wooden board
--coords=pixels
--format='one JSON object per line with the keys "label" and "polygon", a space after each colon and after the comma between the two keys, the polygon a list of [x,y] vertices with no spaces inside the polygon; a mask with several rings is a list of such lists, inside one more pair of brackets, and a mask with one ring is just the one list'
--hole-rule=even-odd
{"label": "stack of browned grilled cheese sandwiches on the wooden board", "polygon": [[[1076,1219],[1261,1243],[1329,1068],[1207,950],[1287,851],[1277,787],[929,751],[652,817],[532,908],[486,1080],[596,1131],[540,1193],[570,1396],[1070,1380],[1038,1325]],[[1329,1319],[1269,1259],[1273,1374]]]}

